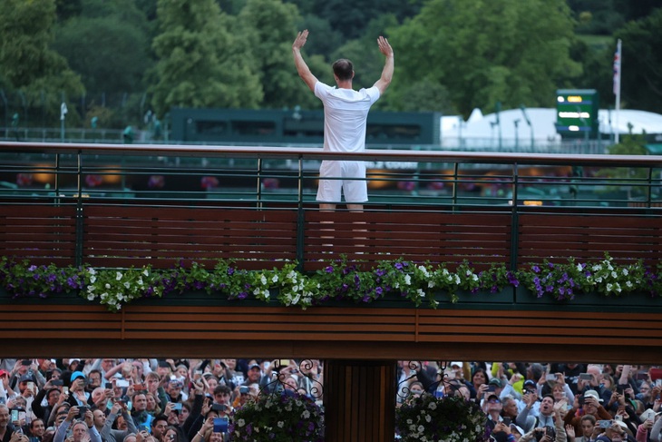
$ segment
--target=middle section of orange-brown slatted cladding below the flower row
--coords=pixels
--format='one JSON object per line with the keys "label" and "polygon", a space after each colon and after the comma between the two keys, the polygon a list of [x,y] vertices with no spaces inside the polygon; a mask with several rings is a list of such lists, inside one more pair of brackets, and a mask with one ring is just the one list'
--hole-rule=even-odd
{"label": "middle section of orange-brown slatted cladding below the flower row", "polygon": [[[159,309],[142,306],[124,312],[125,336],[147,338],[158,330],[178,330],[189,339],[274,340],[411,340],[411,309],[282,307]],[[151,312],[152,311],[152,312]]]}

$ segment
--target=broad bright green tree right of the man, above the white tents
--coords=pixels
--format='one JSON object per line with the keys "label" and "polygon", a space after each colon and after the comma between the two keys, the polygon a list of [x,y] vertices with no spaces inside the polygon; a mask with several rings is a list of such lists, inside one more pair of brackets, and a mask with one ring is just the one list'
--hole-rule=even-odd
{"label": "broad bright green tree right of the man, above the white tents", "polygon": [[580,74],[572,26],[563,0],[431,0],[392,31],[388,101],[409,100],[406,86],[425,78],[445,86],[465,116],[498,101],[549,107],[559,84]]}

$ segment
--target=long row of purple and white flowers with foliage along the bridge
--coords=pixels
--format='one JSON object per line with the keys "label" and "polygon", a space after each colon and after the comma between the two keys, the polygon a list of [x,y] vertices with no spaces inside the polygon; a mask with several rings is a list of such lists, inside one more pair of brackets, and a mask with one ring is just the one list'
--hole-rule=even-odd
{"label": "long row of purple and white flowers with foliage along the bridge", "polygon": [[232,260],[219,261],[213,270],[198,263],[189,268],[178,264],[170,270],[155,270],[150,265],[140,269],[60,269],[3,256],[0,285],[15,297],[45,298],[76,290],[83,298],[100,302],[112,311],[143,297],[190,290],[204,290],[210,296],[227,300],[277,300],[281,305],[301,309],[326,300],[370,303],[389,293],[411,301],[415,307],[426,303],[436,308],[439,295],[457,302],[467,292],[498,292],[520,284],[536,291],[539,297],[551,295],[557,300],[571,300],[577,293],[594,291],[606,296],[636,291],[649,292],[651,296],[662,294],[662,264],[657,269],[641,261],[617,265],[608,254],[599,262],[577,263],[570,258],[566,264],[532,263],[516,273],[503,263],[476,271],[466,261],[455,271],[443,264],[405,260],[384,260],[368,269],[365,262],[349,262],[343,257],[313,274],[299,272],[296,262],[282,264],[272,270],[243,270]]}

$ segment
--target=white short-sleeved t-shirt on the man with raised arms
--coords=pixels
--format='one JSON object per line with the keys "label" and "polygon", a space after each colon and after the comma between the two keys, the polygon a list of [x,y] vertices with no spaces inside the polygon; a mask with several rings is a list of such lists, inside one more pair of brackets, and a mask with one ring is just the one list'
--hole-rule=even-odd
{"label": "white short-sleeved t-shirt on the man with raised arms", "polygon": [[379,89],[373,86],[357,92],[317,82],[315,96],[324,103],[324,150],[363,152],[365,120],[379,99]]}

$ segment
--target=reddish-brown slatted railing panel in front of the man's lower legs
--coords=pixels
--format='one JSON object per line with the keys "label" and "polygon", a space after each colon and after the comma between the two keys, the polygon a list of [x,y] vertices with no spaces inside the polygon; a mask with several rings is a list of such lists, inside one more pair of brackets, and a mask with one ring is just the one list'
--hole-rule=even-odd
{"label": "reddish-brown slatted railing panel in front of the man's lower legs", "polygon": [[509,214],[430,212],[309,212],[305,270],[318,270],[328,253],[358,260],[481,263],[510,260]]}

